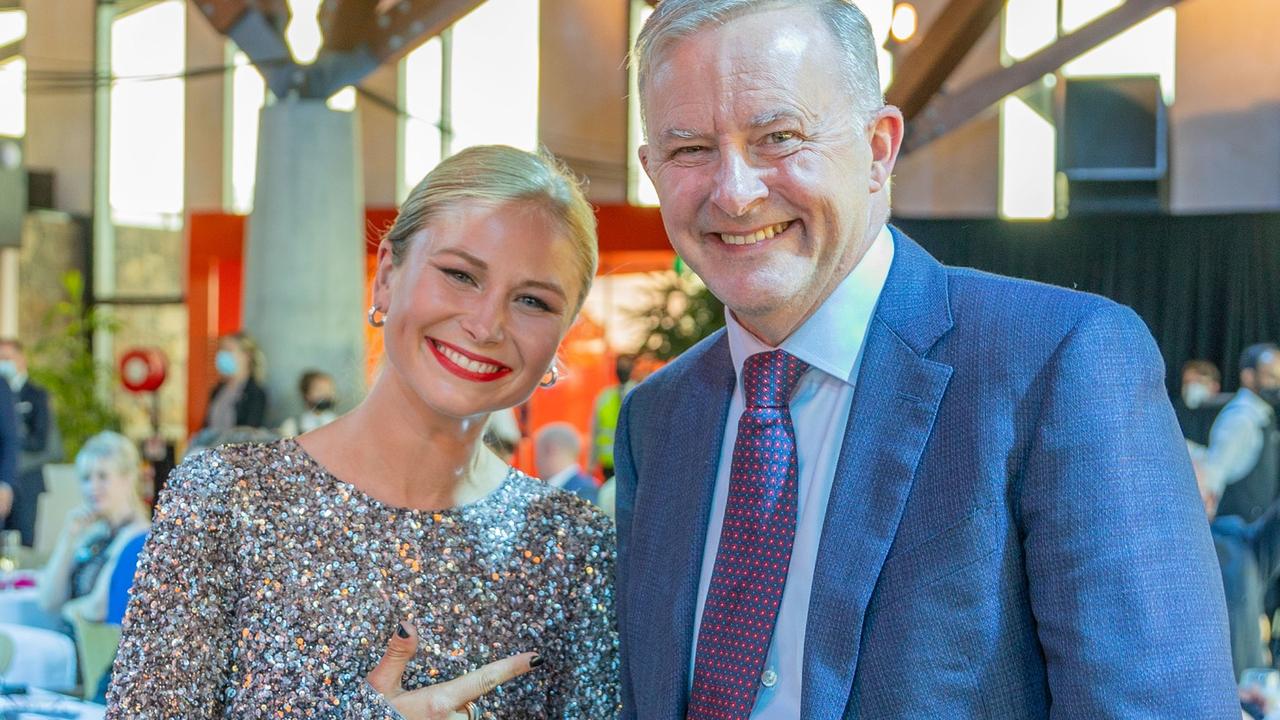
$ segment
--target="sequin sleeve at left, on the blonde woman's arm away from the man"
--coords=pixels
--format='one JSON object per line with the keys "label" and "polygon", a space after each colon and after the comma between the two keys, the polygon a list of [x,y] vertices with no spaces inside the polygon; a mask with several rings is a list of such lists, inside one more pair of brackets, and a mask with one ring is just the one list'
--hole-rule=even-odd
{"label": "sequin sleeve at left, on the blonde woman's arm away from the man", "polygon": [[138,560],[106,717],[220,717],[237,560],[232,479],[215,452],[174,470]]}

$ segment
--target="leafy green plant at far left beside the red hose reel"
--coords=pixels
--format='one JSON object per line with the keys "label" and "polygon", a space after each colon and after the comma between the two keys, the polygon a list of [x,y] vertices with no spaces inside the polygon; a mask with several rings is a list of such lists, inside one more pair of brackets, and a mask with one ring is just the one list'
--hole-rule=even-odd
{"label": "leafy green plant at far left beside the red hose reel", "polygon": [[63,275],[65,297],[44,318],[49,334],[31,348],[31,379],[49,391],[58,429],[63,436],[64,457],[76,457],[91,436],[115,430],[120,418],[99,388],[110,387],[115,370],[97,363],[90,345],[95,333],[114,333],[119,320],[100,307],[84,306],[84,278],[72,270]]}

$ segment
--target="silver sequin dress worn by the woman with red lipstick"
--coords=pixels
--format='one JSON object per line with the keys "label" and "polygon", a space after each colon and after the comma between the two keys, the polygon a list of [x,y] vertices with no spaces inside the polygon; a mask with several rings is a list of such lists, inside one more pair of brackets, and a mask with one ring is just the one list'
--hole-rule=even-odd
{"label": "silver sequin dress worn by the woman with red lipstick", "polygon": [[611,719],[613,566],[608,518],[518,470],[433,512],[374,500],[292,439],[206,451],[161,497],[106,716],[398,719],[364,678],[411,618],[406,688],[538,651],[544,666],[480,701],[486,719]]}

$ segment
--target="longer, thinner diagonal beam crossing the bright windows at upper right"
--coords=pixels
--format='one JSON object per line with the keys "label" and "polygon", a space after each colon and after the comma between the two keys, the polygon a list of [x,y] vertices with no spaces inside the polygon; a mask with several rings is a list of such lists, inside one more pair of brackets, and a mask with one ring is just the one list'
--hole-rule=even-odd
{"label": "longer, thinner diagonal beam crossing the bright windows at upper right", "polygon": [[902,154],[910,154],[959,128],[1001,99],[1178,3],[1179,0],[1128,0],[1020,63],[987,74],[959,92],[937,97],[918,118],[908,122]]}

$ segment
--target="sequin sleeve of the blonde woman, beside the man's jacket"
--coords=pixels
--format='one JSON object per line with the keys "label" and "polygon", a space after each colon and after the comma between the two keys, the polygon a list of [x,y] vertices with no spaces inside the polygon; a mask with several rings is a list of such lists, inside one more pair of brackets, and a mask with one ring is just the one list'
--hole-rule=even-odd
{"label": "sequin sleeve of the blonde woman, beside the man's jacket", "polygon": [[566,607],[567,628],[559,633],[553,662],[557,669],[550,717],[608,720],[621,710],[618,694],[618,633],[613,610],[613,571],[617,543],[613,523],[586,509],[581,520],[586,532],[570,559]]}

